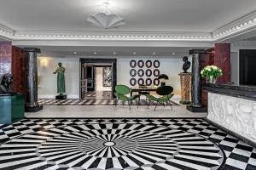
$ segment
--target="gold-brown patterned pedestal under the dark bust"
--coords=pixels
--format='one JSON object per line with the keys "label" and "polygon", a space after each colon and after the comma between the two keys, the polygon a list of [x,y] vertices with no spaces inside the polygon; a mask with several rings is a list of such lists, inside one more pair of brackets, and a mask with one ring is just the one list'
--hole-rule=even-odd
{"label": "gold-brown patterned pedestal under the dark bust", "polygon": [[181,101],[183,105],[191,104],[191,73],[179,73],[181,86]]}

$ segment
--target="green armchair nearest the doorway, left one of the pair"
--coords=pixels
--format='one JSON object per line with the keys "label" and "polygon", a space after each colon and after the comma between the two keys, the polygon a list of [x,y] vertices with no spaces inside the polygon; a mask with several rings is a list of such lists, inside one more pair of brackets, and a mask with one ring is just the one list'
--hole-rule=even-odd
{"label": "green armchair nearest the doorway, left one of the pair", "polygon": [[129,108],[131,110],[131,105],[133,104],[132,101],[135,100],[137,103],[137,108],[138,108],[139,101],[137,99],[139,99],[139,97],[140,97],[139,94],[135,94],[131,97],[128,97],[127,94],[131,93],[131,88],[128,88],[127,86],[121,85],[121,84],[116,85],[114,89],[115,89],[114,95],[117,98],[117,99],[115,99],[115,106],[117,105],[118,100],[121,100],[123,105],[125,105],[125,102],[127,102],[129,105]]}

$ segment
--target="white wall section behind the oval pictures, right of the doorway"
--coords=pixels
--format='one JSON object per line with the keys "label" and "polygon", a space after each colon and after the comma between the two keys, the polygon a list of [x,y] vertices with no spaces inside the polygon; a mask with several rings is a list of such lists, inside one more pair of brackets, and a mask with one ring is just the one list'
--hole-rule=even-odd
{"label": "white wall section behind the oval pictures, right of the doorway", "polygon": [[[125,84],[127,86],[130,85],[130,61],[131,59],[135,59],[136,61],[143,59],[143,61],[146,61],[147,59],[150,59],[154,61],[154,59],[158,59],[160,61],[160,67],[158,68],[160,70],[160,74],[166,74],[169,77],[169,80],[166,81],[166,85],[171,85],[174,88],[174,94],[179,95],[180,94],[180,79],[178,76],[178,73],[182,72],[182,66],[183,66],[183,60],[182,58],[166,58],[166,57],[124,57],[117,59],[117,83],[118,84]],[[191,60],[189,58],[189,60]],[[145,67],[143,67],[144,69]],[[153,68],[153,67],[152,67]],[[135,68],[136,70],[138,67]],[[145,69],[144,69],[145,70]],[[190,69],[189,69],[190,71]],[[119,74],[121,73],[121,74]],[[146,77],[146,76],[144,76]],[[135,77],[136,79],[138,77]],[[154,76],[151,77],[154,80]]]}

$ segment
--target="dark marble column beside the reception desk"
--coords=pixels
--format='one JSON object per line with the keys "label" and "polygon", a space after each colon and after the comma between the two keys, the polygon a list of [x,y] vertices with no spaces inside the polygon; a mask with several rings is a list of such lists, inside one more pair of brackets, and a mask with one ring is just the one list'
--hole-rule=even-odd
{"label": "dark marble column beside the reception desk", "polygon": [[187,107],[189,111],[201,112],[206,109],[201,109],[201,54],[205,54],[204,49],[191,49],[189,54],[192,55],[192,76],[191,76],[191,105]]}

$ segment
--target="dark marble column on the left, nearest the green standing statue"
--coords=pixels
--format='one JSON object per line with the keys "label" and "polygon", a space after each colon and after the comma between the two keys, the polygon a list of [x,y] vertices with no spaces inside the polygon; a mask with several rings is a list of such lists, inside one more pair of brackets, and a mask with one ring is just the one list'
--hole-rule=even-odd
{"label": "dark marble column on the left, nearest the green standing statue", "polygon": [[27,112],[37,112],[43,109],[42,105],[38,105],[38,61],[37,54],[41,53],[39,48],[24,48],[27,52],[28,61],[28,98],[26,102]]}

